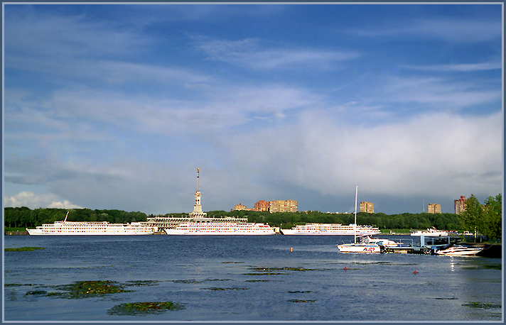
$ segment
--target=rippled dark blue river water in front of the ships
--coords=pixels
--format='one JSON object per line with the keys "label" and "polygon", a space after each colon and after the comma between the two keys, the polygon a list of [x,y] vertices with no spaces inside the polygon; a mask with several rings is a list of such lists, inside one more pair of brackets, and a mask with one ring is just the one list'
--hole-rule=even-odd
{"label": "rippled dark blue river water in front of the ships", "polygon": [[[45,248],[4,252],[4,320],[503,321],[502,259],[339,253],[348,239],[4,236],[6,248]],[[30,294],[85,280],[149,285],[82,299]],[[111,312],[166,301],[184,308]]]}

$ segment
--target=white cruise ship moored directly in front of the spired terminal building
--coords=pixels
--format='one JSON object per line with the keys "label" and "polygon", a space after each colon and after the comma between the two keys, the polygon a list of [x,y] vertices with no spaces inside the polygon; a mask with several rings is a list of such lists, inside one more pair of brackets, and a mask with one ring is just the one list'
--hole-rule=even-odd
{"label": "white cruise ship moored directly in front of the spired terminal building", "polygon": [[232,222],[184,222],[175,228],[166,228],[167,235],[274,235],[267,224]]}

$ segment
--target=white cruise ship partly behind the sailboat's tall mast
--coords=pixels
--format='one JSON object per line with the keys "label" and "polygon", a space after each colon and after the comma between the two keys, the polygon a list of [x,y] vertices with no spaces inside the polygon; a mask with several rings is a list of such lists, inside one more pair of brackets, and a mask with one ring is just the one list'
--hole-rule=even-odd
{"label": "white cruise ship partly behind the sailboat's tall mast", "polygon": [[359,226],[350,224],[305,224],[297,225],[291,229],[281,229],[284,235],[377,235],[379,228],[372,226]]}

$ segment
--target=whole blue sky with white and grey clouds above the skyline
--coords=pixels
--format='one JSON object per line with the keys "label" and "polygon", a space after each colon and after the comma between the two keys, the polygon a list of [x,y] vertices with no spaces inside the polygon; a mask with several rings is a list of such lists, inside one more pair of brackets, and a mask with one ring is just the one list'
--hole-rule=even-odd
{"label": "whole blue sky with white and grey clouds above the skyline", "polygon": [[502,193],[502,4],[4,4],[4,206]]}

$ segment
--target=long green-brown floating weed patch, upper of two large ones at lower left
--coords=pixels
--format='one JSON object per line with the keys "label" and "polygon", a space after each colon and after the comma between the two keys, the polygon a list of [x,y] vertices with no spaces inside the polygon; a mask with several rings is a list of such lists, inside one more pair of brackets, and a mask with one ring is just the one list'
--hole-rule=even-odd
{"label": "long green-brown floating weed patch, upper of two large ones at lower left", "polygon": [[78,281],[72,285],[57,286],[56,288],[65,292],[50,292],[48,297],[63,297],[68,299],[79,299],[86,297],[96,297],[101,294],[113,294],[118,292],[131,292],[124,290],[123,285],[116,281]]}

